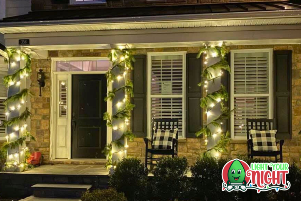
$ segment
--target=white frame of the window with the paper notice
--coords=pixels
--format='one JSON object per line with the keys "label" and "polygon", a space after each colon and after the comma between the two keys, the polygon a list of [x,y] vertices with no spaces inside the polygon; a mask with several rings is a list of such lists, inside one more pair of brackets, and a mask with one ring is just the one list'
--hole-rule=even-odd
{"label": "white frame of the window with the paper notice", "polygon": [[[147,53],[147,137],[151,138],[151,99],[152,98],[182,98],[182,137],[186,138],[185,120],[186,120],[186,53],[187,52],[148,52]],[[182,55],[183,57],[183,91],[182,95],[151,95],[151,57],[152,56],[170,56]]]}

